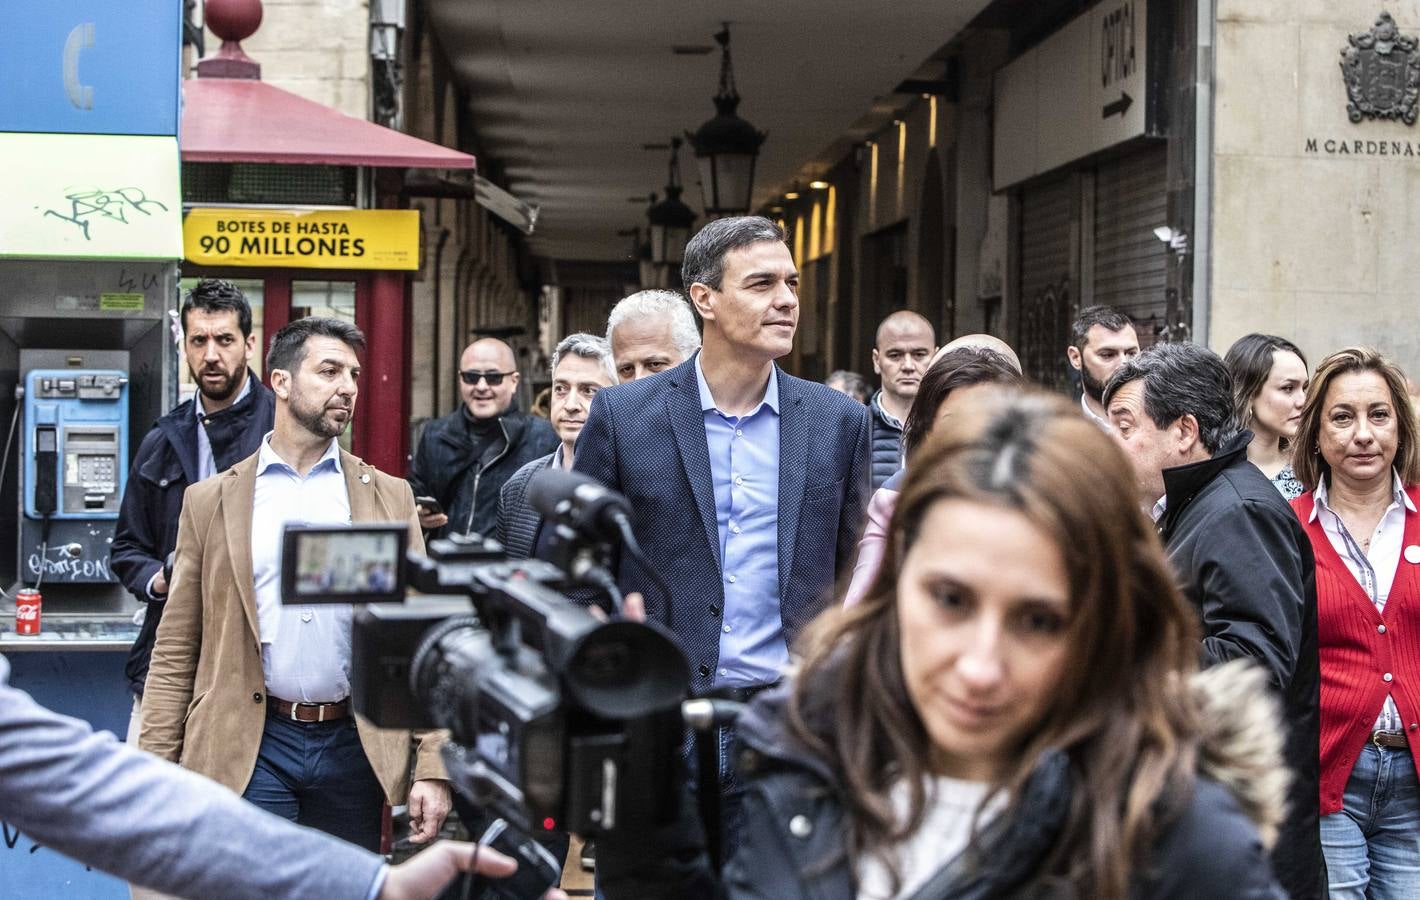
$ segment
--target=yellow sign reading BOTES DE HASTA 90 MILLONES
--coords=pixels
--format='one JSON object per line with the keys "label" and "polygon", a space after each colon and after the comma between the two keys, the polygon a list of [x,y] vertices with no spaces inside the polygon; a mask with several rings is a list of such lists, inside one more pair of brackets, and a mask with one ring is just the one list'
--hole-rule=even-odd
{"label": "yellow sign reading BOTES DE HASTA 90 MILLONES", "polygon": [[199,265],[419,268],[419,210],[195,209],[183,258]]}

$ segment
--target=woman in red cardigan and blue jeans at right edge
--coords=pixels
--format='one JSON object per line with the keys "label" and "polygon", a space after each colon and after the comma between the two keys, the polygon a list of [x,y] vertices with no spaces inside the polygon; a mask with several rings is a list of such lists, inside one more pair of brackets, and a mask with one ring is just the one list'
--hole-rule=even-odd
{"label": "woman in red cardigan and blue jeans at right edge", "polygon": [[1420,430],[1372,349],[1316,369],[1292,501],[1316,555],[1321,813],[1331,896],[1420,897]]}

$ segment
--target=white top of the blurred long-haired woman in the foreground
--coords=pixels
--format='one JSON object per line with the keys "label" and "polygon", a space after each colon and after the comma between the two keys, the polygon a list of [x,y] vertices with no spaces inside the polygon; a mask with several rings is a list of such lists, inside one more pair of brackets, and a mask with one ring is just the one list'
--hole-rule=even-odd
{"label": "white top of the blurred long-haired woman in the foreground", "polygon": [[[971,826],[984,826],[1005,805],[1003,794],[991,798],[980,819],[977,809],[990,785],[958,778],[929,778],[927,808],[922,826],[893,847],[893,862],[900,879],[892,890],[892,873],[878,855],[858,863],[858,900],[895,900],[912,896],[943,866],[956,859],[971,840]],[[909,791],[906,782],[893,785],[892,805],[899,822],[907,818]]]}

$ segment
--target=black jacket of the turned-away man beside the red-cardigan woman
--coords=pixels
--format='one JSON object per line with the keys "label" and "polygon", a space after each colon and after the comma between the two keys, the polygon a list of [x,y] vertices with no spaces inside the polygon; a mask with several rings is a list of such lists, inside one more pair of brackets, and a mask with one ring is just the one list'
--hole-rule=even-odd
{"label": "black jacket of the turned-away man beside the red-cardigan woman", "polygon": [[1294,900],[1326,894],[1318,823],[1321,676],[1312,545],[1277,487],[1247,460],[1251,432],[1210,460],[1166,468],[1159,521],[1203,622],[1203,659],[1251,659],[1279,691],[1292,769],[1291,815],[1272,853]]}

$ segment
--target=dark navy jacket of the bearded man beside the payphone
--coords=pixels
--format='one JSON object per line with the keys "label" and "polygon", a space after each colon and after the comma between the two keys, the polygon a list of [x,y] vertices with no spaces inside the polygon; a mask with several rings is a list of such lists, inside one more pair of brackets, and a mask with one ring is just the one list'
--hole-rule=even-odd
{"label": "dark navy jacket of the bearded man beside the payphone", "polygon": [[[275,419],[275,395],[247,369],[251,390],[227,409],[206,417],[207,441],[217,471],[253,453]],[[148,582],[178,547],[178,514],[182,495],[197,481],[197,415],[185,400],[158,420],[133,454],[124,501],[118,511],[111,559],[114,575],[139,603],[148,603],[143,626],[128,654],[124,674],[129,688],[142,696],[148,662],[153,654],[163,603],[148,598]]]}

